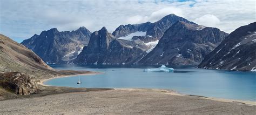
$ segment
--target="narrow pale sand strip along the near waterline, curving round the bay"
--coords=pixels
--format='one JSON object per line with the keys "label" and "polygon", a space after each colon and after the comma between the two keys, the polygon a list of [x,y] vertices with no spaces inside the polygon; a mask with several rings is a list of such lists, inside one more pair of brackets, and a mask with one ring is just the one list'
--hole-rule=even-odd
{"label": "narrow pale sand strip along the near waterline, curving round the bay", "polygon": [[[77,74],[77,75],[63,75],[63,76],[57,76],[54,78],[49,78],[49,79],[43,79],[40,82],[38,82],[37,84],[42,85],[42,86],[52,86],[52,85],[45,85],[44,82],[51,80],[51,79],[56,79],[56,78],[64,78],[64,77],[72,77],[72,76],[79,76],[79,75],[98,75],[98,74],[102,74],[103,72],[90,72],[90,73],[82,73],[82,74]],[[52,87],[57,87],[57,86],[52,86]],[[71,88],[75,88],[75,87],[71,87]],[[85,89],[87,89],[86,87],[84,87]],[[97,89],[97,87],[95,87]],[[100,88],[99,88],[100,89]],[[139,90],[142,88],[113,88],[113,90],[126,90],[126,91],[132,91],[132,90]],[[204,99],[209,99],[209,100],[215,100],[218,102],[228,102],[228,103],[240,103],[240,104],[245,104],[245,105],[252,105],[252,106],[256,106],[256,101],[250,101],[250,100],[236,100],[236,99],[224,99],[224,98],[214,98],[214,97],[205,97],[205,96],[197,96],[197,95],[191,95],[191,94],[181,94],[178,93],[177,91],[174,90],[166,90],[166,89],[147,89],[147,90],[153,90],[153,91],[160,91],[163,92],[165,94],[170,94],[172,96],[196,96],[196,97],[200,97],[200,98],[204,98]]]}

